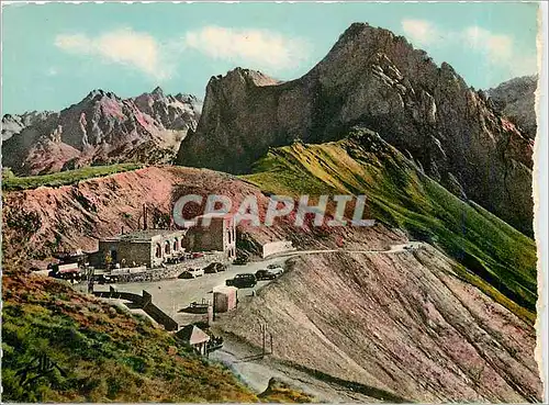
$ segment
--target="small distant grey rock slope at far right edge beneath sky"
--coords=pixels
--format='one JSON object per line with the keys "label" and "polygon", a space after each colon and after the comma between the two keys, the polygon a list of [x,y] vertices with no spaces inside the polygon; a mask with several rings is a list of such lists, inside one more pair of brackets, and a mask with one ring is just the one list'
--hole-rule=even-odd
{"label": "small distant grey rock slope at far right edge beneath sky", "polygon": [[536,75],[518,77],[486,91],[494,103],[494,109],[519,126],[531,139],[536,137],[537,131],[535,94],[537,87]]}

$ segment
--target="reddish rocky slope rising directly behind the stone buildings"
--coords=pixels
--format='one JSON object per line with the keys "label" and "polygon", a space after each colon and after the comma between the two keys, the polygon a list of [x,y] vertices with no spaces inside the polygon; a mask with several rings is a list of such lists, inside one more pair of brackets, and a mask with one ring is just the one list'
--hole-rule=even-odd
{"label": "reddish rocky slope rising directly behind the stone buildings", "polygon": [[[178,167],[148,167],[75,185],[8,192],[3,195],[4,257],[32,259],[43,267],[43,260],[58,251],[96,250],[99,237],[143,226],[144,205],[149,211],[149,227],[168,226],[173,202],[183,194],[226,195],[235,210],[244,196],[255,194],[262,215],[268,204],[268,198],[257,187],[231,175]],[[243,229],[259,243],[289,236],[296,244],[335,246],[335,235],[329,236],[326,229],[304,229],[303,235],[293,235],[293,227],[292,233],[284,230],[291,227],[290,218],[277,224]],[[323,241],[315,240],[318,235]]]}

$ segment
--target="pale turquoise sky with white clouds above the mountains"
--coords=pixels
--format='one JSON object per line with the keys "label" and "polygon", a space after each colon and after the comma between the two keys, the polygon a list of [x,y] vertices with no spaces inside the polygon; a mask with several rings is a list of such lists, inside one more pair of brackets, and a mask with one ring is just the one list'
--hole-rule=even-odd
{"label": "pale turquoise sky with white clouds above the mountains", "polygon": [[475,88],[536,72],[535,3],[2,4],[2,113],[60,110],[92,89],[204,97],[236,66],[309,71],[352,22],[405,35]]}

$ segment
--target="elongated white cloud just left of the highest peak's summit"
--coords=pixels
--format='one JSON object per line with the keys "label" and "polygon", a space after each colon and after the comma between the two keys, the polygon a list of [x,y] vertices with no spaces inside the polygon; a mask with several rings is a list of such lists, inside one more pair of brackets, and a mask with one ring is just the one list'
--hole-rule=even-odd
{"label": "elongated white cloud just left of the highest peak's summit", "polygon": [[183,41],[187,48],[198,49],[212,58],[271,70],[296,67],[309,52],[303,41],[266,30],[205,26],[188,32]]}

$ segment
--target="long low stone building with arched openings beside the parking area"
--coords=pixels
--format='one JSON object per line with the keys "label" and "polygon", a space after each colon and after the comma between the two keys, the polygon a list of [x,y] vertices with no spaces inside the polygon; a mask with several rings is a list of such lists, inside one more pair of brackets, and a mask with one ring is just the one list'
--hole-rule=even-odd
{"label": "long low stone building with arched openings beside the parking area", "polygon": [[105,258],[110,256],[113,267],[116,263],[120,267],[159,267],[167,259],[184,252],[186,233],[186,229],[145,229],[100,239],[99,250],[90,257],[90,263],[104,268],[107,267]]}

